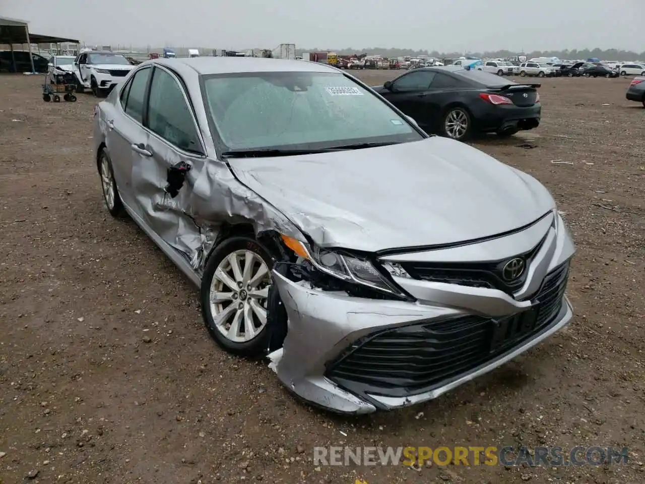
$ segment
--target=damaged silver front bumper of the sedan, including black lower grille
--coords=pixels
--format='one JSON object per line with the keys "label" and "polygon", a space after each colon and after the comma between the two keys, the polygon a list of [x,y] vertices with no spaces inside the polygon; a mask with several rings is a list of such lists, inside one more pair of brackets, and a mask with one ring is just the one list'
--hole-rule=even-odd
{"label": "damaged silver front bumper of the sedan, including black lower grille", "polygon": [[[395,277],[416,301],[367,299],[313,288],[274,270],[288,333],[283,348],[269,355],[271,367],[301,398],[352,414],[421,403],[490,372],[571,319],[564,290],[575,249],[568,232],[559,217],[545,217],[526,232],[549,225],[515,297],[494,288]],[[522,236],[531,238],[514,234],[479,248],[517,248]],[[474,256],[472,249],[456,248],[452,255]],[[423,254],[399,259],[405,257]],[[526,323],[529,314],[534,316]]]}

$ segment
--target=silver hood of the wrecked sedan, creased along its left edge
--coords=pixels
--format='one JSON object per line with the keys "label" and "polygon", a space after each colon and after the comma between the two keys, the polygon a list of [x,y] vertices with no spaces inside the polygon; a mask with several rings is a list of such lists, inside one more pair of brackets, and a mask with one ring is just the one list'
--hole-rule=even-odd
{"label": "silver hood of the wrecked sedan, creased along its left edge", "polygon": [[555,207],[533,177],[438,136],[305,156],[230,159],[237,177],[326,247],[375,252],[508,232]]}

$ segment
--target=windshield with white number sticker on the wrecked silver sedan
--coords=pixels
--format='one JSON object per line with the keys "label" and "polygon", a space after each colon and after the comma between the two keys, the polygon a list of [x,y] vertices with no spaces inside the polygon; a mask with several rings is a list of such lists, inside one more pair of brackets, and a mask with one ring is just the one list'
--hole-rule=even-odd
{"label": "windshield with white number sticker on the wrecked silver sedan", "polygon": [[203,77],[204,102],[229,150],[323,149],[424,139],[341,73],[252,72]]}

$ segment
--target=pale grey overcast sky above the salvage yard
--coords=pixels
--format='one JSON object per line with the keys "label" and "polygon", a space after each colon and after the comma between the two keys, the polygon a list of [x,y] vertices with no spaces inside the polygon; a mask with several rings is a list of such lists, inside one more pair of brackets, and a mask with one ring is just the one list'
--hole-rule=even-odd
{"label": "pale grey overcast sky above the salvage yard", "polygon": [[0,15],[113,47],[645,50],[645,0],[0,0]]}

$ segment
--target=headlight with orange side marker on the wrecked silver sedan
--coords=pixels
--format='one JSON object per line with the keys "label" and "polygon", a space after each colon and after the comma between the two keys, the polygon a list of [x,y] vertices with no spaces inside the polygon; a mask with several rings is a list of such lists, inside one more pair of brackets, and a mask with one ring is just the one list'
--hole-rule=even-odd
{"label": "headlight with orange side marker on the wrecked silver sedan", "polygon": [[297,256],[312,263],[313,267],[344,281],[358,283],[373,289],[402,295],[401,290],[388,281],[372,262],[363,257],[339,254],[317,246],[310,247],[293,237],[282,236],[284,245],[293,250]]}

